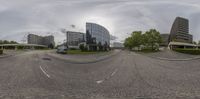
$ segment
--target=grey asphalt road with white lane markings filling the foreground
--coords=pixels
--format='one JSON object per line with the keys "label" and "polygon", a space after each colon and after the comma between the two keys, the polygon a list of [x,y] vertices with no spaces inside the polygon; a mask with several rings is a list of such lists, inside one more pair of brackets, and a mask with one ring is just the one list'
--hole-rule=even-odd
{"label": "grey asphalt road with white lane markings filling the foreground", "polygon": [[157,60],[129,51],[89,64],[38,51],[0,59],[0,99],[199,98],[200,60]]}

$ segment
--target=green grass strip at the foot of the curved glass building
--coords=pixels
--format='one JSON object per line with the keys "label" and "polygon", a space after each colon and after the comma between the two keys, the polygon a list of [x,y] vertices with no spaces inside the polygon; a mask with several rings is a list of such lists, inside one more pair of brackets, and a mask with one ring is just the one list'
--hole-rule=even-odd
{"label": "green grass strip at the foot of the curved glass building", "polygon": [[98,52],[98,51],[81,51],[81,50],[68,50],[67,54],[81,54],[81,55],[87,55],[87,54],[103,54],[103,53],[109,53],[109,52]]}

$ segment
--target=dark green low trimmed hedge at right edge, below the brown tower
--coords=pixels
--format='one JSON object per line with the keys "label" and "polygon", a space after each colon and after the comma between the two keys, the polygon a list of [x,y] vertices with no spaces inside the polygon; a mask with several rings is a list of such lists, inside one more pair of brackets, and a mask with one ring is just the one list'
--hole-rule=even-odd
{"label": "dark green low trimmed hedge at right edge, below the brown tower", "polygon": [[174,51],[180,52],[180,53],[186,53],[186,54],[192,54],[192,55],[200,55],[200,49],[183,49],[183,48],[176,48],[173,49]]}

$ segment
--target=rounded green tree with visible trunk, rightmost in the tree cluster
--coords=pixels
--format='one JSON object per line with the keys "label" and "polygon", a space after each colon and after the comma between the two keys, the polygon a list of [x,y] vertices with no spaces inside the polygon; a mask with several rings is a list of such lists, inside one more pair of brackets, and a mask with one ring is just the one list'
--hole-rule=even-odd
{"label": "rounded green tree with visible trunk, rightmost in the tree cluster", "polygon": [[155,50],[156,44],[160,44],[162,42],[160,33],[156,29],[150,29],[146,31],[144,34],[144,43],[146,46],[151,46],[151,50]]}

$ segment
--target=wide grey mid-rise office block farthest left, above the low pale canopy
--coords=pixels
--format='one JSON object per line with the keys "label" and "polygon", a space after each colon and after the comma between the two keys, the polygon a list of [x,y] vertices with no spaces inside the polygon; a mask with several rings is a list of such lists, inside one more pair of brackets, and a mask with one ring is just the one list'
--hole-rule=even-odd
{"label": "wide grey mid-rise office block farthest left, above the low pale canopy", "polygon": [[35,34],[29,34],[28,44],[45,45],[49,48],[53,48],[55,46],[54,36],[38,36]]}

